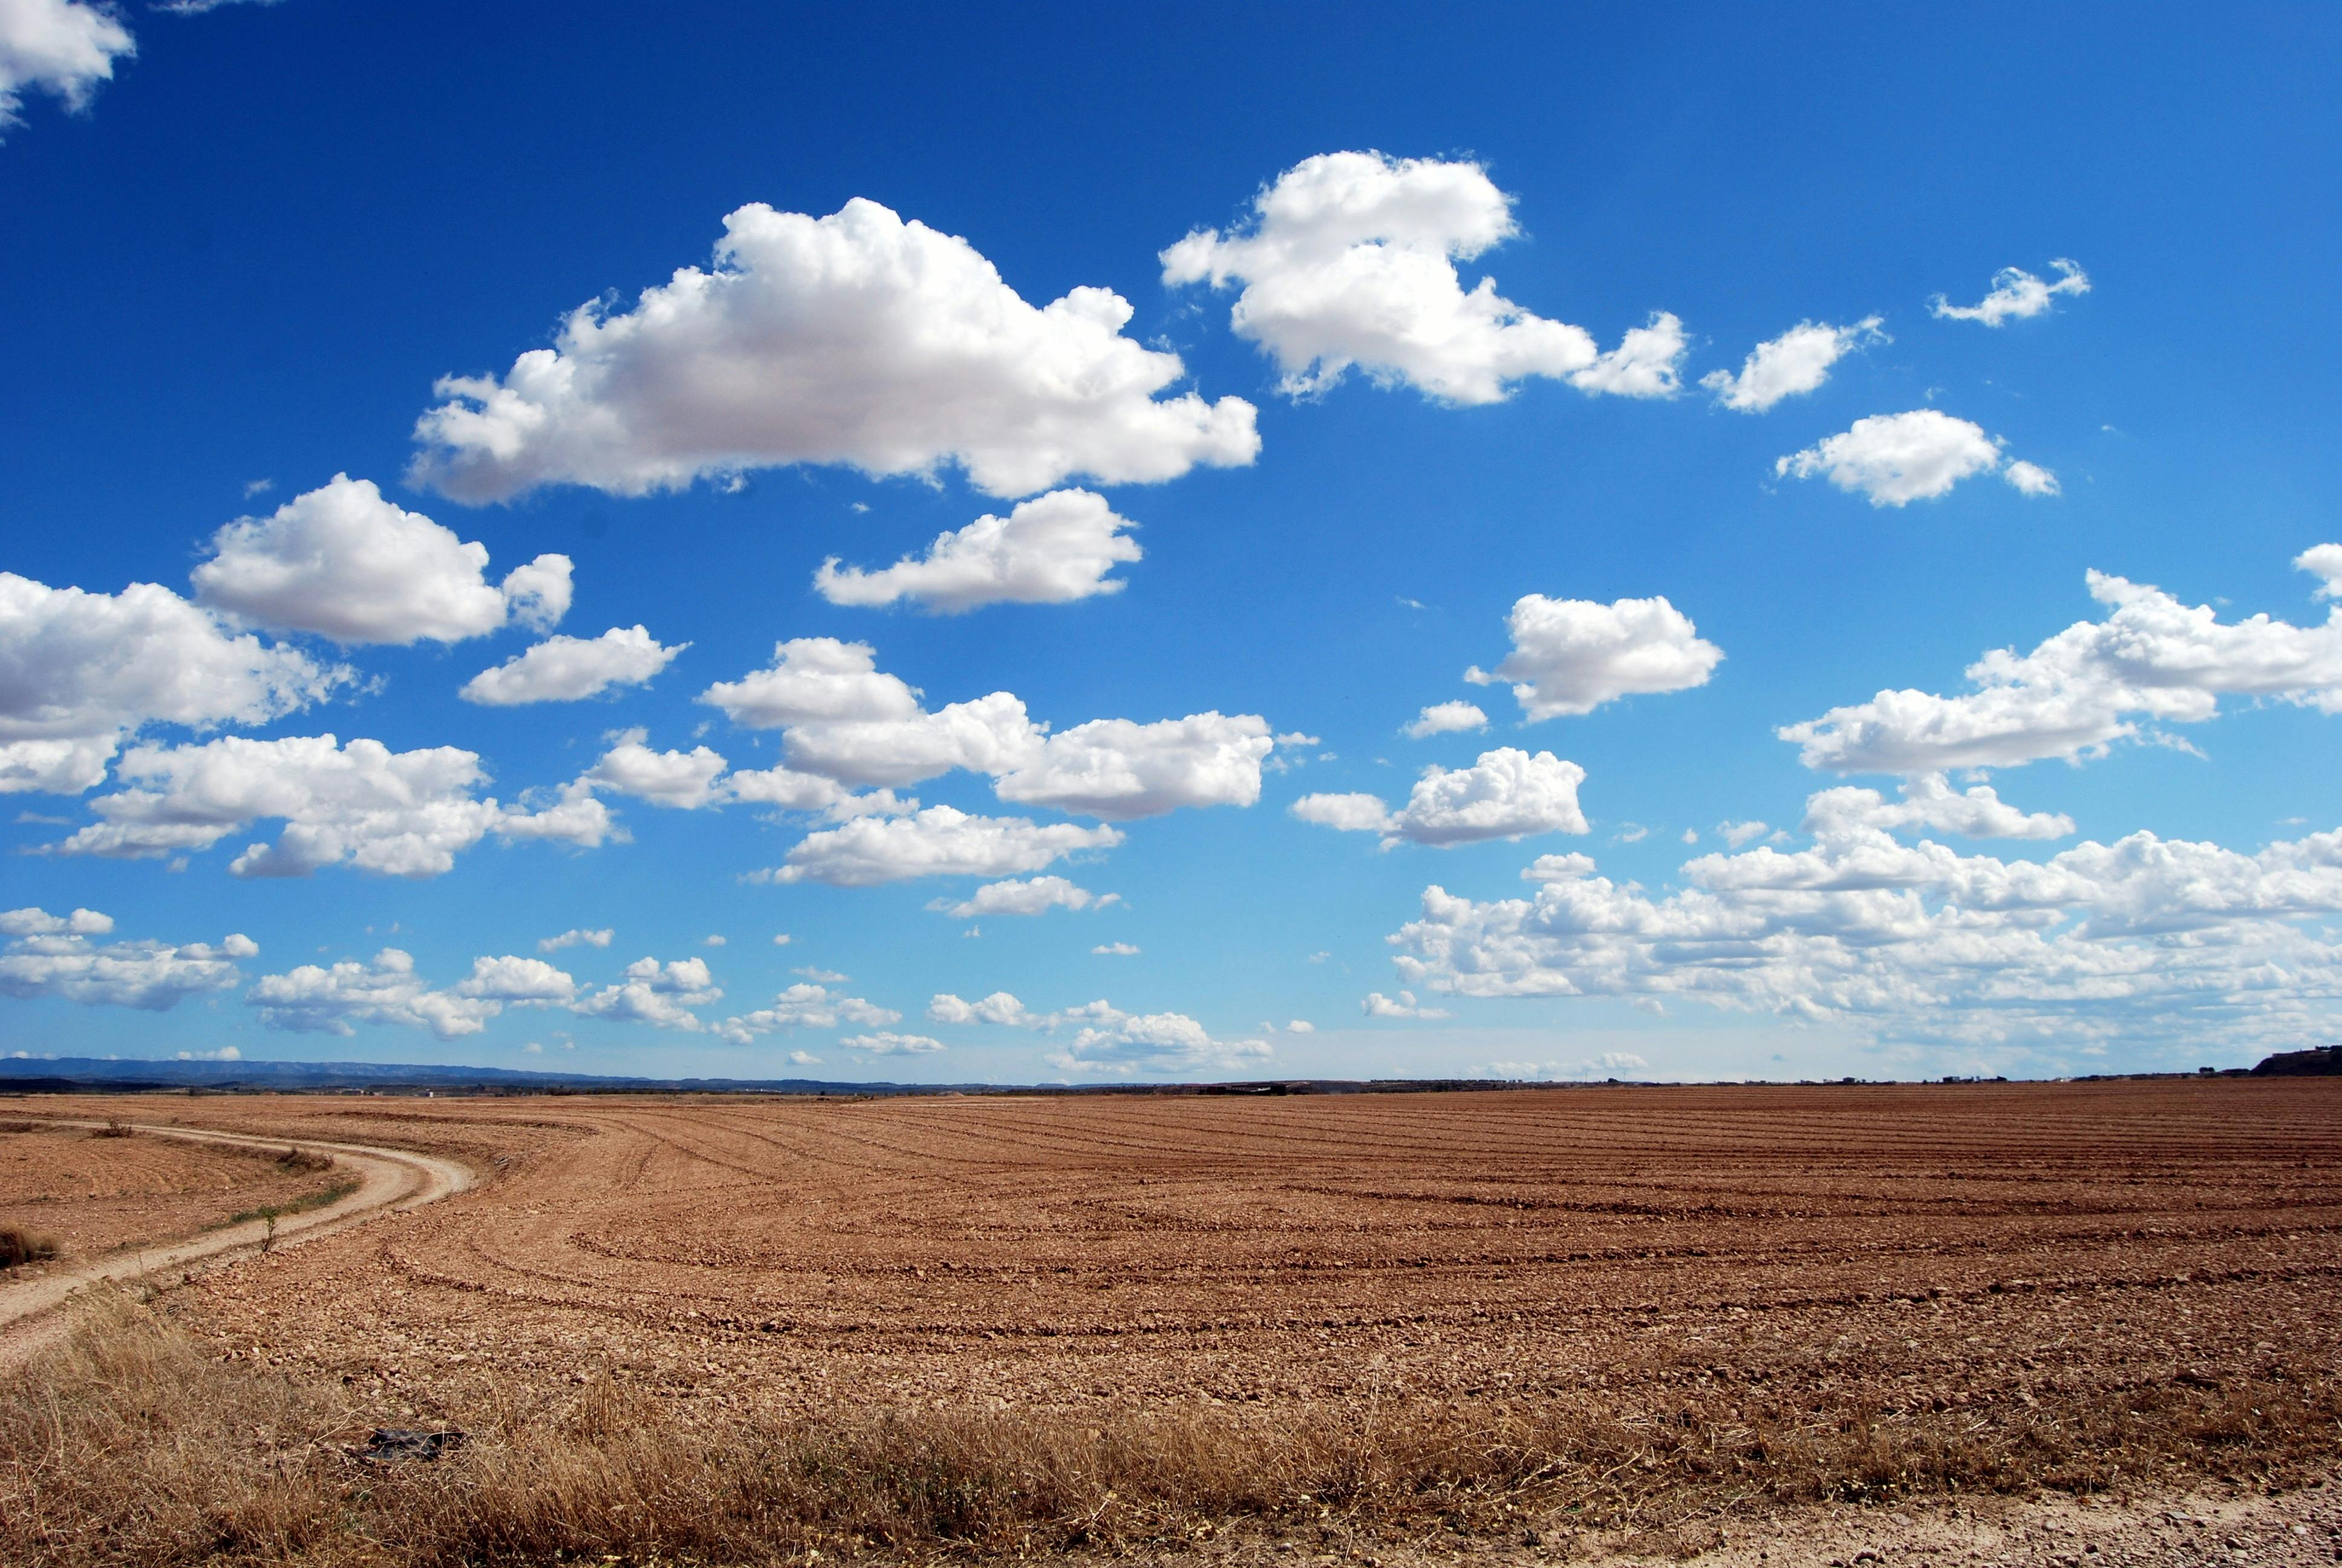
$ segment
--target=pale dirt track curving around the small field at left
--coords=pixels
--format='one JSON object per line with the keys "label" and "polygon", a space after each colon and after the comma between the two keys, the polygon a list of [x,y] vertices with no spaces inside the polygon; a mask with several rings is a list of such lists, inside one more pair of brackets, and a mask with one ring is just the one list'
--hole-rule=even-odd
{"label": "pale dirt track curving around the small field at left", "polygon": [[[105,1125],[105,1120],[75,1118],[30,1120],[40,1130],[75,1130],[84,1134]],[[164,1127],[126,1118],[108,1120],[122,1120],[122,1125],[136,1134],[126,1139],[98,1141],[98,1153],[103,1158],[91,1160],[91,1181],[117,1191],[143,1188],[155,1177],[185,1177],[185,1172],[176,1167],[178,1163],[173,1163],[166,1151],[152,1148],[148,1139],[164,1139],[169,1144],[234,1146],[267,1153],[281,1151],[288,1144],[288,1139],[281,1137],[269,1139],[244,1132]],[[183,1238],[166,1233],[162,1238],[145,1240],[143,1245],[126,1245],[91,1259],[68,1259],[30,1277],[0,1282],[0,1366],[19,1362],[37,1345],[47,1343],[61,1327],[56,1308],[89,1284],[103,1280],[138,1280],[143,1275],[169,1270],[185,1273],[197,1263],[253,1252],[262,1242],[267,1242],[272,1252],[297,1247],[372,1219],[377,1212],[403,1212],[426,1202],[438,1202],[440,1198],[461,1193],[473,1184],[473,1174],[466,1165],[405,1148],[321,1144],[311,1139],[297,1141],[295,1146],[309,1153],[333,1155],[335,1165],[344,1167],[356,1179],[356,1186],[335,1202],[300,1214],[286,1214],[274,1226],[255,1219],[234,1226],[215,1226]]]}

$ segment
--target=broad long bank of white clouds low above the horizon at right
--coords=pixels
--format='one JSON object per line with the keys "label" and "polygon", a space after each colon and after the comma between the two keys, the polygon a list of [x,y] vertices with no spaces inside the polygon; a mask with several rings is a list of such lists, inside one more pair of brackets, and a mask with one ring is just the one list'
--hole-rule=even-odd
{"label": "broad long bank of white clouds low above the horizon at right", "polygon": [[2342,832],[2239,853],[2136,832],[2049,860],[1958,855],[1820,813],[1803,851],[1684,865],[1668,898],[1543,867],[1534,898],[1426,888],[1391,938],[1464,996],[1698,998],[1881,1038],[2326,1038],[2342,996]]}

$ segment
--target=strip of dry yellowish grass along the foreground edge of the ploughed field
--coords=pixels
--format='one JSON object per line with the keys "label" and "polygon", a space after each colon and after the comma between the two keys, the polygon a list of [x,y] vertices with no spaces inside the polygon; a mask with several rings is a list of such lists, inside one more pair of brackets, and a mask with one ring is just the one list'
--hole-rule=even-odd
{"label": "strip of dry yellowish grass along the foreground edge of the ploughed field", "polygon": [[1707,1404],[1461,1411],[1351,1402],[1272,1420],[841,1411],[682,1413],[600,1376],[555,1397],[440,1390],[440,1463],[356,1458],[349,1390],[222,1362],[124,1296],[0,1385],[0,1519],[42,1566],[665,1563],[1321,1545],[1576,1526],[1668,1535],[1815,1498],[2279,1479],[2330,1460],[2335,1373],[2267,1364],[2066,1406],[1768,1413]]}

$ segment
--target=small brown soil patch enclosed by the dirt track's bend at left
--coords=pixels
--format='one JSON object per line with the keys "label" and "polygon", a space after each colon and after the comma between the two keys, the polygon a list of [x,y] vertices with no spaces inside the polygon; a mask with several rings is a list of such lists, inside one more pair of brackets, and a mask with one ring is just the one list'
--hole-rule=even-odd
{"label": "small brown soil patch enclosed by the dirt track's bend at left", "polygon": [[91,1137],[0,1116],[0,1228],[52,1235],[59,1259],[164,1242],[330,1188],[314,1163],[164,1137]]}

